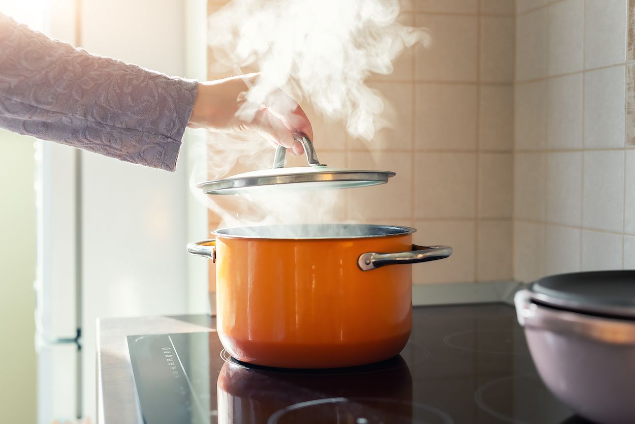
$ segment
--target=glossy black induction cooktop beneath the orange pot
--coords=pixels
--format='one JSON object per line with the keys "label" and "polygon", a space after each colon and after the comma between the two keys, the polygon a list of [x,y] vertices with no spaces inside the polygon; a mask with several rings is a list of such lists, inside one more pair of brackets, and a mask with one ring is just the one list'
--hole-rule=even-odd
{"label": "glossy black induction cooktop beneath the orange pot", "polygon": [[128,347],[146,424],[589,423],[542,384],[506,304],[414,308],[401,355],[363,367],[247,366],[216,332],[129,336]]}

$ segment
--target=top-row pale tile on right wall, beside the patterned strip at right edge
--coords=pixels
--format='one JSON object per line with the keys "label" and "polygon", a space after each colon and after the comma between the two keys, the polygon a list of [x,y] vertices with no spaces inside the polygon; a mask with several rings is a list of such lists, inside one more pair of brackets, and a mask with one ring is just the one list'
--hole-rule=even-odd
{"label": "top-row pale tile on right wall, beside the patterned strip at right edge", "polygon": [[627,0],[585,0],[584,13],[585,67],[624,62]]}

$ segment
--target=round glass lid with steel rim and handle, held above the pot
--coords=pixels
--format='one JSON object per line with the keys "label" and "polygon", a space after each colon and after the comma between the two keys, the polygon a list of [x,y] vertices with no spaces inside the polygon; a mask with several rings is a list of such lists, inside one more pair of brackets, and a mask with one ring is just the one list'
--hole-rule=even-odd
{"label": "round glass lid with steel rim and handle, held above the pot", "polygon": [[278,146],[271,169],[243,172],[224,179],[202,182],[197,188],[208,195],[262,193],[265,189],[323,190],[385,184],[396,175],[391,171],[350,170],[330,168],[320,163],[309,137],[294,134],[302,143],[308,167],[284,168],[286,148]]}

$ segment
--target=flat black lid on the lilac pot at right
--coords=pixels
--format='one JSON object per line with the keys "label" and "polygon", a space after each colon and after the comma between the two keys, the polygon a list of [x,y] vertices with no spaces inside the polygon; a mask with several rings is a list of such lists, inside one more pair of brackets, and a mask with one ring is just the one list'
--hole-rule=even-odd
{"label": "flat black lid on the lilac pot at right", "polygon": [[635,319],[635,270],[552,275],[531,284],[538,304],[612,318]]}

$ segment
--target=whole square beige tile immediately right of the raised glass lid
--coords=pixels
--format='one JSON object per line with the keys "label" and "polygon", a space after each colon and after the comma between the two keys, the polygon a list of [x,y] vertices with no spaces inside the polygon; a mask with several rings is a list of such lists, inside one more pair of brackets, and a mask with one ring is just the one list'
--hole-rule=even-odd
{"label": "whole square beige tile immediately right of the raised glass lid", "polygon": [[415,217],[475,216],[476,154],[417,153],[415,158]]}

